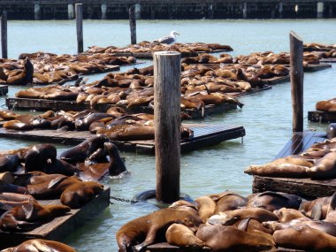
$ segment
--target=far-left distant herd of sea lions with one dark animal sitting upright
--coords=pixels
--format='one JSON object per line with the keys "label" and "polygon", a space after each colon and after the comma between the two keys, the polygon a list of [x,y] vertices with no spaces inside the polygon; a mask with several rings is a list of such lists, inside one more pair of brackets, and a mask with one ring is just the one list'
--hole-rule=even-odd
{"label": "far-left distant herd of sea lions with one dark animal sitting upright", "polygon": [[8,85],[47,85],[77,80],[79,74],[104,73],[116,70],[118,65],[136,63],[135,57],[116,57],[112,54],[68,54],[35,52],[24,53],[19,59],[2,58],[0,83]]}

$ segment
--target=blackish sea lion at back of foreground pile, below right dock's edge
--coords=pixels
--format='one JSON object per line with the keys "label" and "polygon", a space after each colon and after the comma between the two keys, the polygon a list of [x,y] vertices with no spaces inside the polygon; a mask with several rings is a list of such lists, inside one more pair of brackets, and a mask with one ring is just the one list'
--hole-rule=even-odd
{"label": "blackish sea lion at back of foreground pile, below right dock's edge", "polygon": [[266,191],[250,199],[248,207],[258,207],[269,211],[281,208],[298,210],[301,202],[302,197],[297,195]]}

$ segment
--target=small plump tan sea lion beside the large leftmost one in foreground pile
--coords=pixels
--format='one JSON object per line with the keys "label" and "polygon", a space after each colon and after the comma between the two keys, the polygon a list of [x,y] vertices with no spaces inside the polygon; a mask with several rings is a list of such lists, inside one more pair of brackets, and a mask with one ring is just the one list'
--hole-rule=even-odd
{"label": "small plump tan sea lion beside the large leftmost one in foreground pile", "polygon": [[179,247],[204,247],[203,241],[195,236],[186,225],[174,223],[165,232],[165,239],[169,244]]}

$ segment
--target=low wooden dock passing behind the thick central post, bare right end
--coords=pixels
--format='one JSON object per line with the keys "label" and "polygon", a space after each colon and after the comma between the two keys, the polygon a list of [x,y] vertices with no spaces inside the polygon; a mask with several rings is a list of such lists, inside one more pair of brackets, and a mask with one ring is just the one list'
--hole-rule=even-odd
{"label": "low wooden dock passing behind the thick central post, bare right end", "polygon": [[[194,139],[181,141],[181,152],[192,151],[245,136],[243,126],[211,126],[183,124],[194,131]],[[15,131],[0,128],[0,137],[43,141],[50,143],[79,144],[93,136],[88,131],[58,132],[56,130]],[[113,141],[121,151],[154,154],[154,140],[147,141]]]}

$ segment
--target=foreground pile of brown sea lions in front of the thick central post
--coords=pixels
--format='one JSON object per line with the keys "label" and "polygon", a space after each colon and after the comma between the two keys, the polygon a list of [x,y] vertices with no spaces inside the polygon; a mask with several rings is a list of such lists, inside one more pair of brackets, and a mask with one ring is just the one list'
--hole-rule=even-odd
{"label": "foreground pile of brown sea lions in front of the thick central post", "polygon": [[306,251],[336,249],[336,194],[306,201],[263,192],[247,197],[225,191],[195,202],[178,201],[136,218],[116,234],[120,252],[146,251],[153,243],[211,251]]}

